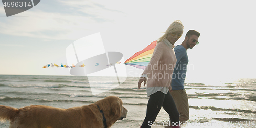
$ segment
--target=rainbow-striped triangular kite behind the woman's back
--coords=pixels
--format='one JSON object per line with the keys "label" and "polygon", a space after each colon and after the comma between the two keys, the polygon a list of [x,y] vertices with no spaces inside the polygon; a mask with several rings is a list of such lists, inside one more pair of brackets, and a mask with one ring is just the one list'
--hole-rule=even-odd
{"label": "rainbow-striped triangular kite behind the woman's back", "polygon": [[145,49],[135,53],[132,57],[127,59],[124,62],[124,64],[145,70],[146,66],[150,62],[150,59],[152,57],[152,54],[156,45],[157,45],[157,41],[152,42]]}

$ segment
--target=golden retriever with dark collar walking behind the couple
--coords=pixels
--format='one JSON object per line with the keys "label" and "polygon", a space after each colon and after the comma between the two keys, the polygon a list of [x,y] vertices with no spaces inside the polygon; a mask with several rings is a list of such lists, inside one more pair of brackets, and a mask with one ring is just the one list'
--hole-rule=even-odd
{"label": "golden retriever with dark collar walking behind the couple", "polygon": [[17,109],[0,105],[0,120],[9,120],[10,128],[105,128],[126,118],[127,112],[120,98],[108,96],[69,109],[42,105]]}

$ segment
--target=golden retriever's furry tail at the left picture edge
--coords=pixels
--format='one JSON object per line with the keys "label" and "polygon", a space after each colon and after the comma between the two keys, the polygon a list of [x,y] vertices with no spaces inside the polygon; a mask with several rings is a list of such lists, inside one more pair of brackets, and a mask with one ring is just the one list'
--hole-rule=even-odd
{"label": "golden retriever's furry tail at the left picture edge", "polygon": [[13,120],[17,114],[17,108],[0,105],[0,121]]}

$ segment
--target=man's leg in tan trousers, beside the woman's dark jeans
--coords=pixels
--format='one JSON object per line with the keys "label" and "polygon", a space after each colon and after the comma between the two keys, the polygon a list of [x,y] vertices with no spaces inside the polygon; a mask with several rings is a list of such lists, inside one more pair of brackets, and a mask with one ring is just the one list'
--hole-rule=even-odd
{"label": "man's leg in tan trousers, beside the woman's dark jeans", "polygon": [[175,105],[180,113],[180,122],[187,121],[189,119],[189,105],[186,90],[174,90],[170,94],[172,95]]}

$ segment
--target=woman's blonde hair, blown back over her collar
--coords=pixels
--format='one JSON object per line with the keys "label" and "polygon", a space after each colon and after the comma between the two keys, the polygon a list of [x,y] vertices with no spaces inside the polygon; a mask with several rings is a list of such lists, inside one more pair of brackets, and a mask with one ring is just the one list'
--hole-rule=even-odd
{"label": "woman's blonde hair, blown back over her collar", "polygon": [[165,31],[164,35],[158,39],[157,43],[166,39],[169,33],[177,32],[177,31],[183,32],[183,29],[184,29],[184,26],[182,22],[180,20],[175,20],[172,24],[170,24],[168,29]]}

